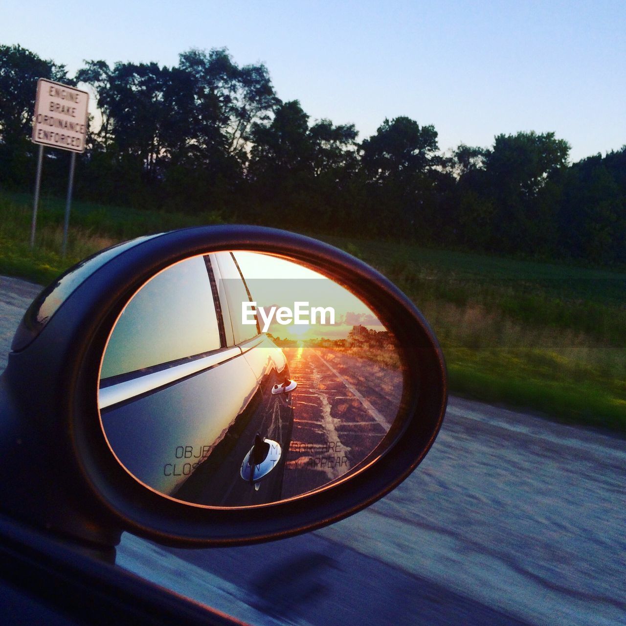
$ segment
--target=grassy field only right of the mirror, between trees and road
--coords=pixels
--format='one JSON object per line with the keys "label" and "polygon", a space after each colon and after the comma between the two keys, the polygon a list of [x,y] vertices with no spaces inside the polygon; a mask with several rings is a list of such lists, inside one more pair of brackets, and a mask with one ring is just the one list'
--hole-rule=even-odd
{"label": "grassy field only right of the mirror, between trees and road", "polygon": [[626,274],[326,239],[416,302],[453,393],[626,434]]}

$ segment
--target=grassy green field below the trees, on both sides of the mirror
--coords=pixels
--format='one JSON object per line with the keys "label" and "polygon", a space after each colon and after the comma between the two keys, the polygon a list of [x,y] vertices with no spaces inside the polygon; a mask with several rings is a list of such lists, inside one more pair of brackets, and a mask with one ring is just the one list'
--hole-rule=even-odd
{"label": "grassy green field below the trees, on both sides of the mirror", "polygon": [[[0,193],[0,274],[41,283],[116,241],[221,221],[76,202],[63,260],[63,200],[43,198],[34,252],[31,202]],[[374,265],[416,302],[443,347],[452,393],[626,434],[626,273],[321,239]]]}

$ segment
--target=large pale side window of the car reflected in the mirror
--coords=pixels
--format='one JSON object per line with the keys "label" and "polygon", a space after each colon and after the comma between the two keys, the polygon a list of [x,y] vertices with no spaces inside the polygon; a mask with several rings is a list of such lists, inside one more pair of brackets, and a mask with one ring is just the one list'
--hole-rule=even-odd
{"label": "large pale side window of the car reflected in the mirror", "polygon": [[101,377],[219,347],[207,266],[203,257],[194,257],[157,274],[126,305],[106,347]]}

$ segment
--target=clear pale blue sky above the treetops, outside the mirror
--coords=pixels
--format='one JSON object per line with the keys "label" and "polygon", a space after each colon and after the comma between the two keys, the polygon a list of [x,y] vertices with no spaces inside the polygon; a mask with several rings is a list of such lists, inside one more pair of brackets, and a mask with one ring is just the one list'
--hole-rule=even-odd
{"label": "clear pale blue sky above the treetops, outside the mirror", "polygon": [[0,43],[65,63],[177,63],[226,46],[312,119],[434,124],[439,147],[555,131],[572,160],[626,143],[626,1],[4,0]]}

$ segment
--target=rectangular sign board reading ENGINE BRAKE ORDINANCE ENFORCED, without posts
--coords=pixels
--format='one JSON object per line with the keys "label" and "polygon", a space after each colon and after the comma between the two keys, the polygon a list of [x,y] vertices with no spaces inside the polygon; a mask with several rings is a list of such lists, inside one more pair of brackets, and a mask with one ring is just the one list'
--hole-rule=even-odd
{"label": "rectangular sign board reading ENGINE BRAKE ORDINANCE ENFORCED, without posts", "polygon": [[88,102],[86,91],[39,78],[33,116],[34,143],[85,151]]}

